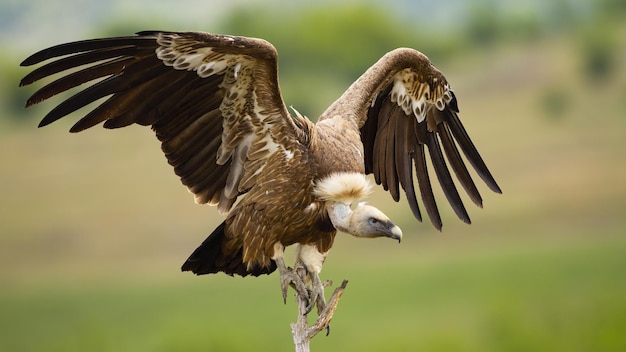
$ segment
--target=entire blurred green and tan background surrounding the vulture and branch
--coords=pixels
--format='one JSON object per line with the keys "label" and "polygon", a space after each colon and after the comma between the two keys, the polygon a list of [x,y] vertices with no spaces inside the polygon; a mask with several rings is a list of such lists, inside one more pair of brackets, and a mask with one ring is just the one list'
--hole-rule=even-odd
{"label": "entire blurred green and tan background surrounding the vulture and branch", "polygon": [[405,239],[337,238],[322,277],[350,284],[313,350],[626,350],[623,0],[225,3],[0,1],[0,350],[293,349],[276,275],[179,272],[222,218],[149,129],[38,130],[59,100],[23,109],[27,55],[144,29],[269,40],[312,118],[399,46],[455,89],[504,194],[479,185],[471,226],[439,194],[438,233],[377,191]]}

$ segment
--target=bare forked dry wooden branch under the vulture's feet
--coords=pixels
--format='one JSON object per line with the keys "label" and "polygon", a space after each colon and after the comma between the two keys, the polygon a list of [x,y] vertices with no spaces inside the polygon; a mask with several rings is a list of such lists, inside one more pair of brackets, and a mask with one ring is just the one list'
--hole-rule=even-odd
{"label": "bare forked dry wooden branch under the vulture's feet", "polygon": [[[298,275],[302,280],[306,280],[306,270],[302,267],[296,267]],[[306,281],[304,281],[306,282]],[[324,286],[330,286],[332,282],[328,281]],[[291,323],[291,333],[293,334],[293,343],[296,347],[296,352],[310,352],[310,341],[320,331],[326,330],[327,335],[330,332],[330,320],[337,310],[339,299],[343,294],[343,291],[348,285],[348,280],[343,280],[341,285],[335,289],[333,295],[330,297],[326,307],[323,311],[318,311],[318,318],[312,326],[309,326],[307,322],[307,305],[308,299],[301,292],[296,290],[296,301],[298,303],[298,320],[295,323]]]}

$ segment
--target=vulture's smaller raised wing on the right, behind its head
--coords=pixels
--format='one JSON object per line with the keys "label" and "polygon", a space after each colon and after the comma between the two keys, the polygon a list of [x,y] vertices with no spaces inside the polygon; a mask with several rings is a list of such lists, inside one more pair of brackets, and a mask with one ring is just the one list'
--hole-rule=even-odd
{"label": "vulture's smaller raised wing on the right, behind its head", "polygon": [[373,173],[376,182],[396,201],[401,187],[413,215],[421,221],[415,170],[426,212],[432,224],[441,229],[427,154],[448,202],[464,222],[470,223],[470,218],[450,169],[479,207],[482,198],[461,154],[491,190],[501,193],[458,112],[454,93],[428,58],[412,49],[396,49],[368,69],[323,116],[339,114],[356,119],[366,173]]}

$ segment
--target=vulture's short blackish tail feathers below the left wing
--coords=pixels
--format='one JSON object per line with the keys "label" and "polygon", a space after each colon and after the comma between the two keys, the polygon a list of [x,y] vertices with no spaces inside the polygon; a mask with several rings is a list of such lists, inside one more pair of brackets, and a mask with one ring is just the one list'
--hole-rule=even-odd
{"label": "vulture's short blackish tail feathers below the left wing", "polygon": [[224,246],[226,236],[224,230],[226,222],[222,222],[202,244],[191,253],[183,264],[182,271],[191,271],[196,275],[214,274],[223,272],[228,275],[259,276],[270,274],[276,270],[276,263],[271,262],[269,267],[253,267],[248,269],[243,262],[243,247],[226,251]]}

